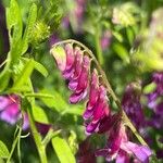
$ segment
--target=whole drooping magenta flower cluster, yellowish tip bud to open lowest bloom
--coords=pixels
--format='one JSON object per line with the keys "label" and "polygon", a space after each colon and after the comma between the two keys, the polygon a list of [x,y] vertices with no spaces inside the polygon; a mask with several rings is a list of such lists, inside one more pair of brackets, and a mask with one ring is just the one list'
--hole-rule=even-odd
{"label": "whole drooping magenta flower cluster, yellowish tip bud to open lowest bloom", "polygon": [[83,114],[86,134],[109,134],[105,149],[98,150],[97,155],[103,155],[108,161],[116,158],[117,163],[126,163],[129,162],[129,154],[133,154],[142,163],[148,163],[150,149],[128,141],[125,126],[121,121],[122,114],[112,115],[105,85],[100,82],[98,71],[91,70],[91,59],[87,52],[67,43],[64,47],[52,47],[51,53],[73,91],[70,102],[77,103],[88,98]]}

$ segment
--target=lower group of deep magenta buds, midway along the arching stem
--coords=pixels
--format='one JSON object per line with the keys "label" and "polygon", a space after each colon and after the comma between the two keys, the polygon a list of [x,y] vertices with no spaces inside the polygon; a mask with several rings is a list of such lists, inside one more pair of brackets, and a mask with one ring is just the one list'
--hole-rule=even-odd
{"label": "lower group of deep magenta buds, midway along the arching stem", "polygon": [[86,105],[84,118],[86,122],[86,134],[90,135],[99,130],[101,121],[109,116],[110,108],[108,104],[106,89],[99,86],[98,73],[93,70],[90,82],[89,101]]}

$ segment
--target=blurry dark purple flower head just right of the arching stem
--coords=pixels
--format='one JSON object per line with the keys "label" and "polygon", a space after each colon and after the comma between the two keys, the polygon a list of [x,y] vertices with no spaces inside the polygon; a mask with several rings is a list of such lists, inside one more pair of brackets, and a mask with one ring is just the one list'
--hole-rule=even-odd
{"label": "blurry dark purple flower head just right of the arching stem", "polygon": [[140,103],[140,90],[135,83],[131,83],[126,87],[122,99],[122,105],[131,122],[138,129],[141,129],[146,125],[146,122]]}

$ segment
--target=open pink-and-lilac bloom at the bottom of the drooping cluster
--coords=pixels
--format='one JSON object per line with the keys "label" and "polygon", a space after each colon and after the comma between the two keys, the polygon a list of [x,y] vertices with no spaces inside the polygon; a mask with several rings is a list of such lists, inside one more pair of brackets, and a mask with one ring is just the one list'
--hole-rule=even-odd
{"label": "open pink-and-lilac bloom at the bottom of the drooping cluster", "polygon": [[108,145],[104,149],[96,152],[96,155],[103,155],[106,161],[116,159],[116,163],[129,163],[129,156],[134,155],[141,163],[149,163],[151,150],[146,146],[136,145],[128,141],[125,126],[120,124],[110,131]]}

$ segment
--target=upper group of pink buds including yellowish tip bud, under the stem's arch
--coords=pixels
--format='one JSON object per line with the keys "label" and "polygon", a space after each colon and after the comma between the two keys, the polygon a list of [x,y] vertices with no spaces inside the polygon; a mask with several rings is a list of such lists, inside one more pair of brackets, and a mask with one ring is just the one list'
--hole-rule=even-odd
{"label": "upper group of pink buds including yellowish tip bud, under the stem's arch", "polygon": [[53,47],[51,53],[63,77],[68,80],[68,88],[74,91],[70,97],[70,102],[79,102],[87,96],[88,91],[89,57],[84,55],[78,47],[73,48],[72,45],[66,45],[65,48]]}

